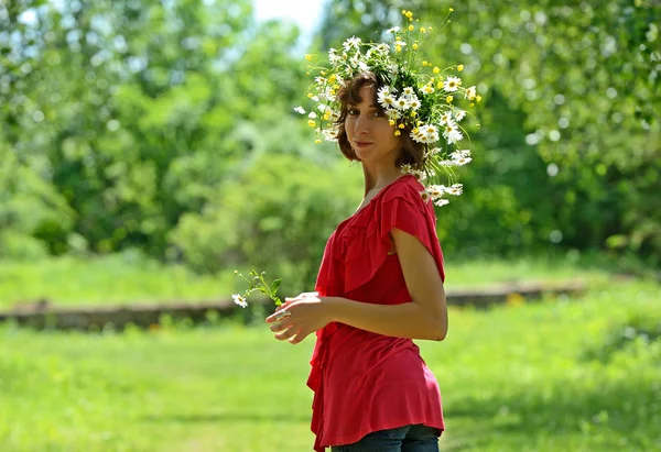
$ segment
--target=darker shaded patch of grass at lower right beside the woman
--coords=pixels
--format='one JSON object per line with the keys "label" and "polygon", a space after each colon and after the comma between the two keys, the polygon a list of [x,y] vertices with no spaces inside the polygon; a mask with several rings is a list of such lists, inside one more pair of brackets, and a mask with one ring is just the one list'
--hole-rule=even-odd
{"label": "darker shaded patch of grass at lower right beside the woman", "polygon": [[446,449],[479,448],[479,437],[492,441],[494,436],[532,439],[599,432],[626,438],[628,448],[649,450],[661,445],[661,383],[631,381],[596,385],[590,390],[579,386],[566,382],[500,397],[455,400],[444,410],[445,417],[470,427],[458,429],[462,431]]}

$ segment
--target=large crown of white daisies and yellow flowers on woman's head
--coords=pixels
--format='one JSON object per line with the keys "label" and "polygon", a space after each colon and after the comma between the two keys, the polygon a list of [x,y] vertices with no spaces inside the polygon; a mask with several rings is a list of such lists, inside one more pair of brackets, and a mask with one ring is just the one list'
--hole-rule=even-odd
{"label": "large crown of white daisies and yellow flowers on woman's head", "polygon": [[[433,199],[436,206],[445,206],[448,200],[443,198],[444,195],[460,195],[463,191],[462,184],[453,184],[453,168],[472,159],[469,150],[451,150],[451,146],[457,147],[466,135],[459,123],[467,114],[473,115],[453,102],[463,95],[463,100],[474,107],[481,97],[475,86],[464,88],[459,77],[449,75],[455,69],[464,70],[463,65],[441,69],[426,60],[420,64],[418,49],[425,38],[431,38],[426,45],[432,44],[433,30],[431,26],[416,26],[411,11],[403,10],[402,14],[409,24],[388,30],[392,35],[390,43],[364,43],[354,36],[344,42],[342,52],[330,48],[328,59],[307,73],[318,74],[307,90],[307,97],[316,108],[310,112],[303,107],[294,110],[307,114],[308,125],[316,130],[316,143],[321,143],[322,137],[336,141],[336,123],[342,108],[339,90],[362,73],[375,74],[382,82],[377,100],[390,125],[394,126],[394,134],[399,136],[402,131],[410,131],[411,139],[424,146],[422,165],[402,165],[402,172],[413,174],[425,186],[421,191],[425,201]],[[449,22],[448,15],[442,26]],[[305,55],[305,58],[312,60],[311,55]],[[448,186],[433,184],[442,172],[447,175]]]}

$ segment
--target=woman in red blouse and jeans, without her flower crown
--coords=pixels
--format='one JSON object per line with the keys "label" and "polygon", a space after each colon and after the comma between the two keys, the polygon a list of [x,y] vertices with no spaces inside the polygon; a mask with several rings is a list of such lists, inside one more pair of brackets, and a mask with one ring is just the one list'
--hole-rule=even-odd
{"label": "woman in red blouse and jeans, without her flower crown", "polygon": [[288,298],[267,319],[291,343],[317,331],[308,379],[317,451],[437,451],[444,429],[438,385],[412,341],[447,333],[443,255],[423,186],[401,172],[422,146],[394,135],[380,85],[361,74],[340,93],[338,142],[362,165],[365,199],[330,236],[317,293]]}

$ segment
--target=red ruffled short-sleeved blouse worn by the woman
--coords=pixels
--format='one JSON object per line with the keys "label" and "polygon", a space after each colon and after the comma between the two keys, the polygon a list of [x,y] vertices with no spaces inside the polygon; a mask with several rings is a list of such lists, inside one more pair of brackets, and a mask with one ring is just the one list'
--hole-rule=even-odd
{"label": "red ruffled short-sleeved blouse worn by the woman", "polygon": [[[405,175],[384,187],[328,239],[315,289],[319,296],[398,305],[411,301],[390,231],[416,236],[434,256],[441,278],[443,253],[432,202]],[[410,339],[329,323],[316,333],[307,386],[314,394],[314,450],[350,444],[367,433],[424,423],[444,430],[436,378]]]}

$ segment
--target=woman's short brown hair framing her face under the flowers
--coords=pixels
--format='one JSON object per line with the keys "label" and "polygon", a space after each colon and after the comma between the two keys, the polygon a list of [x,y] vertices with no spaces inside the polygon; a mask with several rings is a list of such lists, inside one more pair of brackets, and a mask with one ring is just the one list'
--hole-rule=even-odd
{"label": "woman's short brown hair framing her face under the flowers", "polygon": [[[367,71],[354,77],[339,90],[337,95],[337,99],[340,103],[340,113],[339,119],[335,123],[337,125],[336,139],[337,143],[339,144],[339,151],[342,151],[343,155],[349,161],[357,162],[359,158],[356,156],[356,153],[349,143],[349,139],[347,137],[347,132],[345,131],[344,126],[345,120],[347,119],[348,107],[358,104],[362,100],[360,98],[360,89],[366,85],[371,86],[372,88],[375,96],[373,104],[377,106],[377,109],[379,109],[381,113],[386,114],[377,101],[377,93],[379,89],[384,86],[384,84],[373,73]],[[399,139],[402,145],[402,153],[398,157],[395,165],[401,166],[408,164],[411,165],[413,169],[421,169],[424,164],[423,159],[426,144],[414,142],[413,139],[411,139],[411,128],[409,124],[405,124],[405,128],[401,129],[401,131],[402,134]]]}

